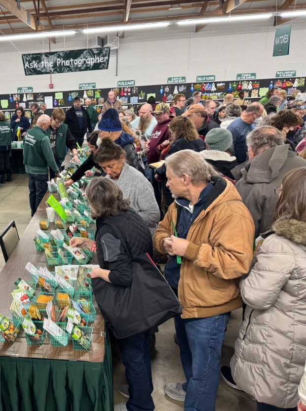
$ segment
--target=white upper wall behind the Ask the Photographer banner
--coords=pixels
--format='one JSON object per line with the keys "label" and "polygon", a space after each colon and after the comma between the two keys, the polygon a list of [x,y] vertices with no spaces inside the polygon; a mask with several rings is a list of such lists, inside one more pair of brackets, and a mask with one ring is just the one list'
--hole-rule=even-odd
{"label": "white upper wall behind the Ask the Photographer banner", "polygon": [[[220,24],[220,23],[219,23]],[[55,91],[75,90],[82,82],[96,82],[97,88],[111,88],[118,80],[135,80],[136,85],[165,84],[167,77],[186,76],[195,82],[196,76],[215,75],[217,81],[235,80],[237,73],[256,72],[257,79],[274,78],[278,70],[296,70],[298,77],[306,76],[303,22],[291,31],[289,56],[272,57],[275,28],[272,21],[256,26],[230,24],[220,28],[210,24],[200,33],[194,26],[172,25],[160,31],[126,32],[116,57],[111,57],[109,69],[102,71],[55,74]],[[193,31],[193,33],[191,33]],[[86,36],[78,33],[51,43],[51,51],[86,48]],[[20,86],[33,86],[34,92],[47,91],[49,75],[25,76],[22,53],[48,51],[48,41],[15,41],[0,43],[0,94],[13,93]]]}

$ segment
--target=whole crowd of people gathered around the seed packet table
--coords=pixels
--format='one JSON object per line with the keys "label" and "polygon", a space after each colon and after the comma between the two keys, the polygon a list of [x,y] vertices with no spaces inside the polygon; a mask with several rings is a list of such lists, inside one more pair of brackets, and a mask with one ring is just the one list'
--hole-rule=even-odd
{"label": "whole crowd of people gathered around the seed packet table", "polygon": [[[111,90],[99,118],[91,100],[86,110],[79,97],[51,118],[32,103],[31,123],[20,107],[11,125],[0,112],[1,182],[5,171],[11,178],[7,147],[22,131],[32,216],[49,168],[50,178],[58,176],[68,149],[79,162],[77,148],[89,133],[90,155],[65,185],[99,177],[86,189],[97,237],[71,244],[96,247],[97,294],[103,282],[132,287],[133,258],[149,253],[165,263],[165,279],[182,306],[174,323],[186,378],[167,383],[165,393],[184,401],[185,411],[215,410],[230,312],[242,306],[222,378],[252,396],[258,411],[297,410],[299,393],[300,409],[306,406],[302,94],[287,102],[273,87],[259,102],[228,94],[218,107],[196,91],[189,100],[175,95],[172,105],[150,97],[133,112]],[[112,329],[107,313],[106,323]],[[128,382],[119,391],[128,400],[116,411],[154,410],[149,331],[118,340]]]}

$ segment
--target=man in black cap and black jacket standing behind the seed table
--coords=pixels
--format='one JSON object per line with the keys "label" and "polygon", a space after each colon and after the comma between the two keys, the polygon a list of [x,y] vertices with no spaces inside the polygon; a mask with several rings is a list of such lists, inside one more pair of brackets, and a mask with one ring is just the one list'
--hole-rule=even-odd
{"label": "man in black cap and black jacket standing behind the seed table", "polygon": [[79,96],[74,98],[73,106],[67,111],[64,123],[68,124],[68,128],[74,136],[76,143],[82,147],[84,142],[84,134],[87,129],[91,133],[92,126],[89,114],[81,105],[81,99]]}

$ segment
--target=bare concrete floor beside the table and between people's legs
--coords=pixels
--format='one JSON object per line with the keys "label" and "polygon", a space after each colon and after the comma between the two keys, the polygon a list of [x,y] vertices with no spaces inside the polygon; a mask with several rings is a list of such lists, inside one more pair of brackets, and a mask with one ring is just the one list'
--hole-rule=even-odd
{"label": "bare concrete floor beside the table and between people's legs", "polygon": [[[11,221],[15,220],[21,236],[31,220],[29,206],[28,176],[13,175],[12,183],[0,184],[0,231]],[[0,270],[4,259],[0,251]],[[225,345],[223,347],[222,365],[228,365],[233,353],[234,341],[241,322],[241,310],[234,311],[229,320]],[[180,362],[179,347],[174,343],[174,324],[168,321],[159,328],[156,334],[155,352],[152,356],[153,400],[156,411],[184,410],[184,403],[167,397],[164,393],[166,382],[184,382],[184,374]],[[114,365],[114,396],[115,404],[125,402],[117,388],[125,383],[124,367],[120,363]],[[255,403],[243,394],[229,388],[220,381],[217,406],[218,411],[255,411]]]}

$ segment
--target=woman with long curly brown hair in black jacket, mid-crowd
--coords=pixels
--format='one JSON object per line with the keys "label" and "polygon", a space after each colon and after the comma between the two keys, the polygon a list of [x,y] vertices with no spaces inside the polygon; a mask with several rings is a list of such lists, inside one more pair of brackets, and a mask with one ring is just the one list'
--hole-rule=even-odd
{"label": "woman with long curly brown hair in black jacket, mid-crowd", "polygon": [[[156,151],[158,151],[158,149],[163,150],[163,148],[167,146],[169,147],[169,150],[165,154],[164,158],[167,158],[171,154],[177,153],[181,150],[189,149],[196,152],[205,150],[203,140],[199,137],[194,124],[189,120],[188,117],[179,116],[171,120],[171,122],[169,123],[169,135],[171,141],[166,140],[156,148]],[[168,180],[166,177],[165,164],[162,164],[161,167],[156,168],[155,172],[155,178],[158,179],[158,181],[161,181],[161,208],[163,213],[165,214],[170,204],[172,204],[174,201],[169,188],[166,187]]]}

